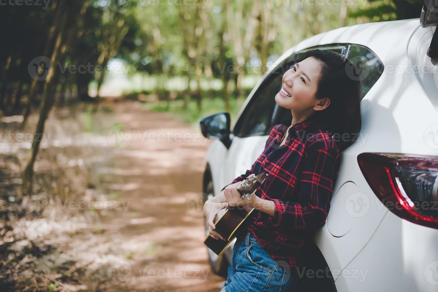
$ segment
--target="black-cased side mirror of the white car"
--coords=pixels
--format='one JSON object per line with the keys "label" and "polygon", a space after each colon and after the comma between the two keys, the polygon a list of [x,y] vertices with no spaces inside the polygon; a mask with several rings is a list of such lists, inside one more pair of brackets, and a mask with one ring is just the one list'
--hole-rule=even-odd
{"label": "black-cased side mirror of the white car", "polygon": [[219,139],[230,148],[230,114],[222,112],[218,114],[208,115],[199,119],[202,135],[205,138]]}

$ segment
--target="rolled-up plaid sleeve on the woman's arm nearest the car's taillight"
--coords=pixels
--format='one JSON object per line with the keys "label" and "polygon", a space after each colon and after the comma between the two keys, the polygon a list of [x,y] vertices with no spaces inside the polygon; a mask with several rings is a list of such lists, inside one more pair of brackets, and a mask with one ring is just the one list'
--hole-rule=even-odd
{"label": "rolled-up plaid sleeve on the woman's arm nearest the car's taillight", "polygon": [[314,143],[304,157],[300,175],[300,202],[272,199],[275,214],[261,222],[262,226],[283,225],[307,232],[324,226],[337,175],[339,150],[336,146],[321,148],[321,145],[328,146],[326,142]]}

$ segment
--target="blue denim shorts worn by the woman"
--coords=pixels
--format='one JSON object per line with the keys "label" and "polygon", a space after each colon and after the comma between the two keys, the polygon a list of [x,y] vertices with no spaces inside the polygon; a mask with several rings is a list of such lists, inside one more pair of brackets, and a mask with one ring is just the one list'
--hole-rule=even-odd
{"label": "blue denim shorts worn by the woman", "polygon": [[300,278],[270,257],[249,231],[237,239],[221,292],[298,291]]}

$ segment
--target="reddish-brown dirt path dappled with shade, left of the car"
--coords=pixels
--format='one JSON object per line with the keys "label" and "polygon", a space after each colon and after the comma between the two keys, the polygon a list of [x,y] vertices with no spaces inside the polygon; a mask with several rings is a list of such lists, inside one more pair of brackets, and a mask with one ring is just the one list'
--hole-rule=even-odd
{"label": "reddish-brown dirt path dappled with shade, left of the car", "polygon": [[[199,130],[145,111],[138,102],[111,106],[127,137],[116,149],[110,191],[129,204],[103,223],[109,240],[123,245],[126,261],[112,265],[112,291],[219,291],[210,270],[201,209],[203,158],[210,141]],[[131,136],[129,136],[131,133]],[[120,141],[119,141],[120,142]],[[124,148],[124,146],[127,146]],[[188,203],[187,203],[188,202]]]}

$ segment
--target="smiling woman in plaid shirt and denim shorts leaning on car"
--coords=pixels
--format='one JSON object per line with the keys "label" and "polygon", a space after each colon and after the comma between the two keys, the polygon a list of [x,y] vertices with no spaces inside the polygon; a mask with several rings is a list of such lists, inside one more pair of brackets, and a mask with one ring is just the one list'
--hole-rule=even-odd
{"label": "smiling woman in plaid shirt and denim shorts leaning on car", "polygon": [[[251,169],[205,202],[209,234],[217,240],[224,240],[214,230],[220,209],[256,209],[247,233],[234,244],[221,291],[297,291],[306,271],[308,236],[325,224],[329,212],[339,151],[354,142],[350,137],[361,127],[360,82],[347,75],[351,68],[336,52],[305,52],[284,73],[275,97],[292,115],[272,128]],[[261,171],[268,177],[251,200],[242,200],[237,186]]]}

